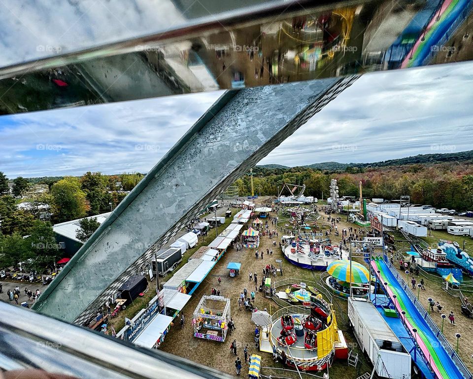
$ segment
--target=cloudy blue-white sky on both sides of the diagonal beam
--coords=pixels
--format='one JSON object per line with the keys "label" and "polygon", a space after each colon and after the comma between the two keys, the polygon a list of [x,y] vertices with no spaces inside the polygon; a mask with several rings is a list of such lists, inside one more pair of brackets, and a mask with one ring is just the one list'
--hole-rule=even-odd
{"label": "cloudy blue-white sky on both sides of the diagonal beam", "polygon": [[[364,75],[260,163],[472,150],[473,64]],[[222,91],[0,117],[0,171],[147,172]]]}

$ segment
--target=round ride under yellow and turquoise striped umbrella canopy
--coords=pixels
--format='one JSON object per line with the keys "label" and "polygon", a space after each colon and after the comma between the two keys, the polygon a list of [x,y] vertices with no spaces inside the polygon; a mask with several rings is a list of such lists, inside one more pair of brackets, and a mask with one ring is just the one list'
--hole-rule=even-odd
{"label": "round ride under yellow and turquoise striped umbrella canopy", "polygon": [[358,262],[339,260],[331,263],[327,267],[330,276],[326,279],[326,284],[338,296],[350,297],[350,276],[351,288],[354,297],[367,298],[370,290],[370,272],[368,268]]}

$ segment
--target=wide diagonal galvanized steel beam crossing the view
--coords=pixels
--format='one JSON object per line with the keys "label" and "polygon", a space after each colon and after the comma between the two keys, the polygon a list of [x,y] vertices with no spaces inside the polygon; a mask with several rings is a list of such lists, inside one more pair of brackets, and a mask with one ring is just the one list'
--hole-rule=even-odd
{"label": "wide diagonal galvanized steel beam crossing the view", "polygon": [[[226,92],[119,204],[35,303],[82,323],[249,167],[358,76]],[[159,143],[159,142],[157,142]]]}

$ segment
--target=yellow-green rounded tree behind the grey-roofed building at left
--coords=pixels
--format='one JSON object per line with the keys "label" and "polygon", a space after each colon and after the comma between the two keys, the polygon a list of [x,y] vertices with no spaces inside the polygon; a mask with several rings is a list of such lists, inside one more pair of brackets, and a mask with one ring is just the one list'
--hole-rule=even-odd
{"label": "yellow-green rounded tree behind the grey-roofed building at left", "polygon": [[59,222],[75,220],[86,215],[89,205],[79,179],[66,177],[51,187],[53,213]]}

